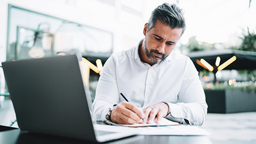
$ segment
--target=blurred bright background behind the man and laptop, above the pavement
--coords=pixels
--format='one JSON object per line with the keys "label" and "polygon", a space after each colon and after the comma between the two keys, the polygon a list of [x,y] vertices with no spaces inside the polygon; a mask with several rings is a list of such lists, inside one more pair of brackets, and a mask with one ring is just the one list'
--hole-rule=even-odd
{"label": "blurred bright background behind the man and laptop, above the pavement", "polygon": [[[174,51],[193,60],[209,113],[256,111],[254,0],[2,0],[0,62],[75,53],[104,64],[111,53],[139,43],[151,11],[162,3],[185,12],[187,28]],[[98,78],[90,70],[92,99]],[[2,68],[0,82],[3,103],[10,96]],[[0,124],[15,121],[10,111],[1,113]]]}

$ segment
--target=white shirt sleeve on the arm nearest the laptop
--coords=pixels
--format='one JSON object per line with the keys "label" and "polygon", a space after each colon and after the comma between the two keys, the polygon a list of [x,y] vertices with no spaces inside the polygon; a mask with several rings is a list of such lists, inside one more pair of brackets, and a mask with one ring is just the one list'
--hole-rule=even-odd
{"label": "white shirt sleeve on the arm nearest the laptop", "polygon": [[108,108],[114,103],[118,103],[119,95],[116,82],[116,67],[113,56],[105,63],[95,93],[95,99],[92,103],[94,119],[97,121],[106,120]]}

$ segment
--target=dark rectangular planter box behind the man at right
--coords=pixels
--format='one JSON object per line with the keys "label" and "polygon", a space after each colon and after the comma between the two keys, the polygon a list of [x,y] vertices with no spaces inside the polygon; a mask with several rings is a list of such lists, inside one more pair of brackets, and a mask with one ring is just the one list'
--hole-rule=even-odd
{"label": "dark rectangular planter box behind the man at right", "polygon": [[242,90],[204,90],[208,113],[256,111],[256,93]]}

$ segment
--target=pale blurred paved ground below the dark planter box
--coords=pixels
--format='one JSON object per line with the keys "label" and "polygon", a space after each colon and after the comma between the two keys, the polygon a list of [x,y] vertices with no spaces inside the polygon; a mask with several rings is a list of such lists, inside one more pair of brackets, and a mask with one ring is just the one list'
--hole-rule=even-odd
{"label": "pale blurred paved ground below the dark planter box", "polygon": [[256,112],[207,114],[202,126],[212,143],[256,143]]}

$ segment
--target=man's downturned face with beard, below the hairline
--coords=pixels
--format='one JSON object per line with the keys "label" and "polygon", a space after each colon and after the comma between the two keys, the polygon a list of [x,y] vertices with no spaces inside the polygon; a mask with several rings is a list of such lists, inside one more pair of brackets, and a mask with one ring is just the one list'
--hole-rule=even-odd
{"label": "man's downturned face with beard, below the hairline", "polygon": [[161,62],[172,52],[175,44],[179,41],[182,28],[172,29],[159,20],[157,20],[155,26],[146,33],[147,28],[146,23],[143,31],[145,35],[143,39],[143,49],[151,62]]}

